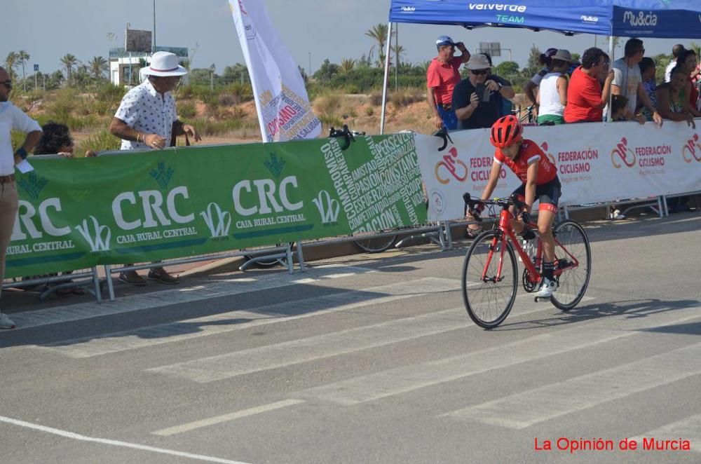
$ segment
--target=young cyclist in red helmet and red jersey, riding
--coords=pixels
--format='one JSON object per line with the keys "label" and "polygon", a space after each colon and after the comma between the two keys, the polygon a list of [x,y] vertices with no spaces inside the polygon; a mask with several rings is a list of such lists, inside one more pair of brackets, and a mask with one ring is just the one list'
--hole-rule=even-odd
{"label": "young cyclist in red helmet and red jersey, riding", "polygon": [[[538,233],[543,243],[543,279],[536,293],[538,298],[549,298],[557,290],[557,282],[553,278],[555,259],[555,241],[552,236],[552,221],[557,212],[557,200],[560,198],[560,181],[557,178],[557,168],[547,159],[545,153],[533,140],[523,138],[523,127],[516,116],[503,116],[491,126],[489,141],[496,146],[494,163],[491,165],[489,181],[482,192],[482,200],[489,198],[499,179],[502,165],[507,165],[523,184],[514,191],[514,195],[526,203],[524,211],[517,216],[515,207],[511,213],[522,221],[514,221],[514,230],[524,238],[532,240],[535,234],[524,227],[524,222],[530,221],[533,201],[538,198]],[[482,211],[484,205],[477,207]]]}

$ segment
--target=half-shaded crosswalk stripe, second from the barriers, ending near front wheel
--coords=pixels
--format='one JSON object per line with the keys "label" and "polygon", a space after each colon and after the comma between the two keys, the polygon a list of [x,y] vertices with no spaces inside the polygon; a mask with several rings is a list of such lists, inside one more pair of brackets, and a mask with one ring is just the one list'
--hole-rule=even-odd
{"label": "half-shaded crosswalk stripe, second from the barriers, ending near front wheel", "polygon": [[[337,311],[348,311],[349,309],[362,308],[364,306],[386,304],[391,301],[416,298],[421,295],[436,294],[458,288],[460,288],[460,283],[457,280],[421,278],[340,294],[276,303],[257,308],[255,311],[228,311],[203,318],[101,335],[97,338],[86,337],[84,339],[60,341],[38,348],[53,350],[69,357],[93,357],[117,353],[123,350],[194,339],[200,336],[248,329],[259,325],[308,318]],[[235,321],[237,320],[242,322],[236,323]],[[226,323],[222,324],[222,322]]]}

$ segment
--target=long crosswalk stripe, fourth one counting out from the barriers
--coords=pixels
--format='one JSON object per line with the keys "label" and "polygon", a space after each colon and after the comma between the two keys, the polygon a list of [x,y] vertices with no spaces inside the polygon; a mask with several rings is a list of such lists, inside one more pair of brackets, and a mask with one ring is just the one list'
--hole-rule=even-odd
{"label": "long crosswalk stripe, fourth one counting out from the barriers", "polygon": [[[397,367],[376,374],[320,385],[298,392],[296,395],[345,405],[379,400],[383,397],[480,374],[491,369],[501,369],[632,336],[639,334],[640,330],[651,327],[695,319],[699,317],[698,310],[698,306],[676,310],[674,320],[669,320],[669,315],[665,311],[648,314],[645,318],[629,318],[628,315],[607,317],[590,322],[586,326],[578,324],[570,329],[533,336],[465,355]],[[519,313],[519,315],[523,314]],[[508,355],[508,353],[515,354]]]}

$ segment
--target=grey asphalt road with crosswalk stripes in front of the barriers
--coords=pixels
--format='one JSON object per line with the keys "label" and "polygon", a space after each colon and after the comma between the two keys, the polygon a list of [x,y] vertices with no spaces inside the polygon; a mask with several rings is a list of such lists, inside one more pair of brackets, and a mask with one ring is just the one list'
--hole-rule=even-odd
{"label": "grey asphalt road with crosswalk stripes in front of the barriers", "polygon": [[114,303],[8,292],[0,461],[699,463],[700,226],[588,225],[578,308],[521,289],[492,331],[463,308],[464,248],[428,245]]}

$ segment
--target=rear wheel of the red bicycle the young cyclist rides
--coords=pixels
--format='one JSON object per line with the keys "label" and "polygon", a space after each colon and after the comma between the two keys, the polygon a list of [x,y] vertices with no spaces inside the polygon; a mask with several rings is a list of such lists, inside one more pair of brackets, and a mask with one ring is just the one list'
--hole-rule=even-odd
{"label": "rear wheel of the red bicycle the young cyclist rides", "polygon": [[[592,250],[589,238],[584,228],[571,219],[556,224],[552,229],[555,236],[555,256],[558,259],[556,275],[557,292],[552,294],[550,301],[556,308],[568,311],[579,303],[592,274]],[[576,267],[574,260],[578,261]],[[564,261],[563,261],[564,260]]]}

